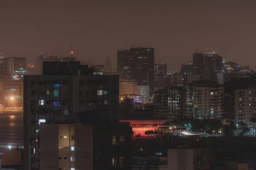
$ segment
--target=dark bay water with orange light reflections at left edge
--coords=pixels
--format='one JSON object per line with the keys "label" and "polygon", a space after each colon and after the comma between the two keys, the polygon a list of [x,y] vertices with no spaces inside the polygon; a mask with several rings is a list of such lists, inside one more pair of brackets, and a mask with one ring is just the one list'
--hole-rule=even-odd
{"label": "dark bay water with orange light reflections at left edge", "polygon": [[[23,111],[0,111],[0,146],[23,146]],[[3,148],[0,147],[0,152]]]}

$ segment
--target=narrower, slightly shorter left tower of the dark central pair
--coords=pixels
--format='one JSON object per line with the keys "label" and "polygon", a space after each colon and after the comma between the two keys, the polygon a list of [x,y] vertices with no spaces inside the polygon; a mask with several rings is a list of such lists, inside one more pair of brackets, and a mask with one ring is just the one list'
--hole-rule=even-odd
{"label": "narrower, slightly shorter left tower of the dark central pair", "polygon": [[117,68],[116,72],[120,75],[120,78],[130,77],[132,57],[129,50],[117,51]]}

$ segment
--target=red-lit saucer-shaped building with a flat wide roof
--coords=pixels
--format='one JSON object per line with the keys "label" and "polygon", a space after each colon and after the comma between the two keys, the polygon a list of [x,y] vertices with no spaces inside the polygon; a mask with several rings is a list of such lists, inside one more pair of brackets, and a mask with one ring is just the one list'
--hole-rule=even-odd
{"label": "red-lit saucer-shaped building with a flat wide roof", "polygon": [[159,125],[163,125],[167,120],[120,120],[120,122],[130,122],[134,135],[145,135],[146,131],[157,129]]}

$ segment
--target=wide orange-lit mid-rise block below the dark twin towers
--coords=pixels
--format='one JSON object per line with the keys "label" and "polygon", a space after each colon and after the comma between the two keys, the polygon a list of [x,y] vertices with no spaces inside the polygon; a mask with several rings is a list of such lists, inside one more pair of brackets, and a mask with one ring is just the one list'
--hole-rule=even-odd
{"label": "wide orange-lit mid-rise block below the dark twin towers", "polygon": [[134,79],[119,79],[119,96],[135,94],[135,87],[138,82]]}

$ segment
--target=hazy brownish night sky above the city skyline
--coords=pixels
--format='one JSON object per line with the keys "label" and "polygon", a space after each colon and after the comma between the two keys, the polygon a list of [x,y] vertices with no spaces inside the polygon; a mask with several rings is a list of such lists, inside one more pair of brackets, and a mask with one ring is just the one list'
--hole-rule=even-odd
{"label": "hazy brownish night sky above the city skyline", "polygon": [[[54,1],[54,2],[52,2]],[[218,52],[256,70],[256,0],[0,0],[0,53],[52,54],[116,68],[119,46],[155,48],[180,71],[195,51]]]}

